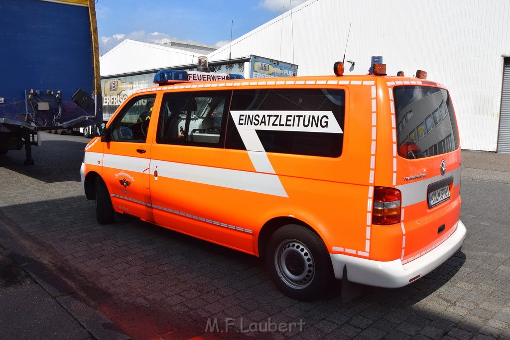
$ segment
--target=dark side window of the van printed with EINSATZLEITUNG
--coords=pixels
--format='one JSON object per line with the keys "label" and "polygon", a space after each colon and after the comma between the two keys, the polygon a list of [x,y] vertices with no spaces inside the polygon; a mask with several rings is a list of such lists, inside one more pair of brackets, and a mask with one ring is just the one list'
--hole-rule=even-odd
{"label": "dark side window of the van printed with EINSATZLEITUNG", "polygon": [[236,90],[226,148],[338,157],[345,92],[325,89]]}

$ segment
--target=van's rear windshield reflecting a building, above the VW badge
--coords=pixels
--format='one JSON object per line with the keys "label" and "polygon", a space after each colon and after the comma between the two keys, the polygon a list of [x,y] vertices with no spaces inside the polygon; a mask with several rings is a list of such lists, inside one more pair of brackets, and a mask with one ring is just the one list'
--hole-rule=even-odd
{"label": "van's rear windshield reflecting a building, above the VW badge", "polygon": [[457,125],[448,91],[426,86],[397,86],[393,96],[400,156],[418,159],[458,148]]}

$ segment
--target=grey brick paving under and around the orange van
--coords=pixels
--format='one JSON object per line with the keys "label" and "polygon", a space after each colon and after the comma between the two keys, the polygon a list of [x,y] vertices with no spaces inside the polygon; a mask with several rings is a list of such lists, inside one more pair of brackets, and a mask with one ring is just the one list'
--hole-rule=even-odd
{"label": "grey brick paving under and around the orange van", "polygon": [[[99,225],[81,190],[85,142],[43,135],[33,167],[21,165],[23,151],[0,156],[0,219],[134,338],[510,338],[508,184],[463,180],[468,237],[424,278],[398,290],[363,286],[346,304],[339,284],[299,302],[256,257],[143,222]],[[280,323],[282,332],[260,331]]]}

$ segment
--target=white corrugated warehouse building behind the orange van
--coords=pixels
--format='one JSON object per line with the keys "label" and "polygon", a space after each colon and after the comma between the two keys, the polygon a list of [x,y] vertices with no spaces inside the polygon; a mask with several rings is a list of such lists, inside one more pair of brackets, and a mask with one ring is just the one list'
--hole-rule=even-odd
{"label": "white corrugated warehouse building behind the orange van", "polygon": [[[309,0],[208,58],[258,55],[312,75],[332,74],[344,51],[345,74],[367,73],[370,57],[382,56],[390,75],[425,70],[429,80],[448,88],[463,149],[510,152],[509,17],[508,0]],[[101,59],[101,76],[122,73],[105,65]]]}

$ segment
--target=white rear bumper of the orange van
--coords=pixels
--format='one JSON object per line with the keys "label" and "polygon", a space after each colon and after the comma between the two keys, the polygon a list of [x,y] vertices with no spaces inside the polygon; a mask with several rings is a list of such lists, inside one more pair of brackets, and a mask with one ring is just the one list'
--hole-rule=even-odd
{"label": "white rear bumper of the orange van", "polygon": [[461,248],[465,238],[466,227],[459,220],[455,231],[447,240],[405,265],[402,265],[400,259],[382,262],[344,254],[329,255],[337,279],[342,278],[344,266],[347,266],[347,277],[351,282],[399,288],[409,284],[412,278],[418,275],[421,278],[443,264]]}

